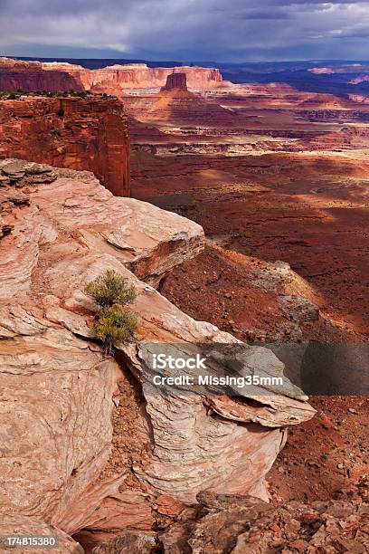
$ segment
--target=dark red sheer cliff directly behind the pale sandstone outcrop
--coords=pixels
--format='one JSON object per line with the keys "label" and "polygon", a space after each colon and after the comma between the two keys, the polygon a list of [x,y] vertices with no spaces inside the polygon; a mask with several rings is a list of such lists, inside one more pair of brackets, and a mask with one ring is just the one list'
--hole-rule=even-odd
{"label": "dark red sheer cliff directly behind the pale sandstone outcrop", "polygon": [[129,135],[117,99],[0,100],[0,158],[92,171],[115,196],[129,196]]}

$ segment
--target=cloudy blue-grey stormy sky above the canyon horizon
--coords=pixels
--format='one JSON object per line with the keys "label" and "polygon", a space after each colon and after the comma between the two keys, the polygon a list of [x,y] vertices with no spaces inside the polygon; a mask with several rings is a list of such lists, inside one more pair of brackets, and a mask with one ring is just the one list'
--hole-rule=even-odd
{"label": "cloudy blue-grey stormy sky above the canyon horizon", "polygon": [[260,62],[369,58],[369,2],[0,0],[0,54]]}

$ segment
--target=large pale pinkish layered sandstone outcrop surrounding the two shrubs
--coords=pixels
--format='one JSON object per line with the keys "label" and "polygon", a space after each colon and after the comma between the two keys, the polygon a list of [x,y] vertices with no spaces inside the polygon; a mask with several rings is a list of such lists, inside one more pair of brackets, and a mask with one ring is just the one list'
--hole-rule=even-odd
{"label": "large pale pinkish layered sandstone outcrop surrounding the two shrubs", "polygon": [[[149,284],[202,249],[202,228],[114,197],[89,173],[15,160],[0,169],[8,228],[0,240],[2,515],[83,531],[93,543],[125,528],[149,532],[163,494],[193,502],[210,489],[267,500],[265,475],[285,426],[314,414],[300,391],[266,395],[261,387],[256,403],[247,390],[239,401],[152,394],[143,377],[152,344],[179,352],[241,345]],[[138,291],[137,334],[116,358],[91,336],[96,306],[83,293],[107,269]],[[241,356],[242,368],[283,372],[267,349],[245,347]]]}

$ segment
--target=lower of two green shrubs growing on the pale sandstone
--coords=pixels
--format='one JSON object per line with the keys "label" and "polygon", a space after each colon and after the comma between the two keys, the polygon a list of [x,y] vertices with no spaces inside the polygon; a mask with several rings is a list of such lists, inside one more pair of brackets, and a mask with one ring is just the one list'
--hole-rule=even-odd
{"label": "lower of two green shrubs growing on the pale sandstone", "polygon": [[96,339],[101,340],[107,354],[112,354],[114,347],[126,342],[136,329],[136,316],[115,304],[100,311],[99,320],[92,327],[92,332]]}

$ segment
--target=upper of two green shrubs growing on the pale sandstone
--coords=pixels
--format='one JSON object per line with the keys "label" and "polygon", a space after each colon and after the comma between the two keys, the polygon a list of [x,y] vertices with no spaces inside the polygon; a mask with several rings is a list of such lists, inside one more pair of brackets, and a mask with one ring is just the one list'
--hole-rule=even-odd
{"label": "upper of two green shrubs growing on the pale sandstone", "polygon": [[135,287],[114,270],[108,270],[95,281],[89,282],[84,291],[102,308],[113,304],[128,304],[137,298]]}

